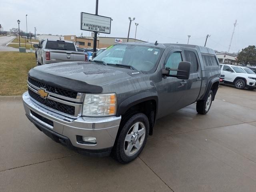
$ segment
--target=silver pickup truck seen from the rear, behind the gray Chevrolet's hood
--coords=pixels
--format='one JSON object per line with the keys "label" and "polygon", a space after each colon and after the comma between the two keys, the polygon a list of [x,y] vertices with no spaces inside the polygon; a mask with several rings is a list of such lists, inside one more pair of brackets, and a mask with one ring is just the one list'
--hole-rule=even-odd
{"label": "silver pickup truck seen from the rear, behind the gray Chevrolet's hood", "polygon": [[74,42],[64,40],[42,40],[34,44],[36,64],[44,65],[64,61],[88,61],[86,53],[77,50]]}

